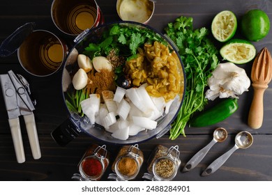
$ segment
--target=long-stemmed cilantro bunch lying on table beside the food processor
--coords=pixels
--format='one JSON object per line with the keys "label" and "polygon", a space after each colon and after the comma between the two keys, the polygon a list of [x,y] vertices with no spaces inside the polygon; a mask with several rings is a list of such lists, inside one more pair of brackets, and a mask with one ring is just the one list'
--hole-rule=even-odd
{"label": "long-stemmed cilantro bunch lying on table beside the food processor", "polygon": [[195,111],[202,111],[207,100],[204,89],[211,72],[218,65],[218,50],[208,38],[206,28],[193,29],[192,17],[179,17],[165,28],[167,36],[179,48],[186,72],[186,92],[178,116],[172,123],[169,139],[185,134],[185,127]]}

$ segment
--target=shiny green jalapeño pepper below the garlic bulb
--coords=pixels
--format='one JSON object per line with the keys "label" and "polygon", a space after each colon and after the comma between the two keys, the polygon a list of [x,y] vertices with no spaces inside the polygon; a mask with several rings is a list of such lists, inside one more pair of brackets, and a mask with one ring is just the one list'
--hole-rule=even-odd
{"label": "shiny green jalape\u00f1o pepper below the garlic bulb", "polygon": [[216,104],[210,109],[200,112],[199,115],[193,116],[189,122],[190,127],[206,127],[219,123],[227,117],[234,114],[238,109],[237,99],[227,98]]}

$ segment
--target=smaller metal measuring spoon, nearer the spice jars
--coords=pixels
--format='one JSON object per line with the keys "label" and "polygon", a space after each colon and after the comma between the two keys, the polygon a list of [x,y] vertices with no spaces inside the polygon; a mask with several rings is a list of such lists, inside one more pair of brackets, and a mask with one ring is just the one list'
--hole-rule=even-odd
{"label": "smaller metal measuring spoon, nearer the spice jars", "polygon": [[217,128],[216,130],[214,130],[213,140],[207,146],[202,148],[202,150],[199,150],[199,152],[196,153],[189,160],[189,162],[187,162],[186,166],[184,166],[184,168],[183,168],[183,172],[187,172],[187,171],[190,171],[190,170],[194,169],[195,166],[197,166],[197,164],[199,164],[199,162],[202,161],[202,159],[205,157],[206,153],[209,152],[209,150],[211,149],[211,147],[215,143],[225,141],[226,139],[227,139],[227,130],[225,130],[222,127]]}

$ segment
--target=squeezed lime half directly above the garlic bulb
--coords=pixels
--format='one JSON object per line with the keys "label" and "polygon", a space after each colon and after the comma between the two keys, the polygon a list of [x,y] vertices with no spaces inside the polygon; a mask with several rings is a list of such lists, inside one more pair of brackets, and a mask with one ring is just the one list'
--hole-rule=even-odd
{"label": "squeezed lime half directly above the garlic bulb", "polygon": [[247,40],[232,39],[229,40],[221,49],[220,54],[223,59],[232,63],[247,63],[255,58],[256,49]]}

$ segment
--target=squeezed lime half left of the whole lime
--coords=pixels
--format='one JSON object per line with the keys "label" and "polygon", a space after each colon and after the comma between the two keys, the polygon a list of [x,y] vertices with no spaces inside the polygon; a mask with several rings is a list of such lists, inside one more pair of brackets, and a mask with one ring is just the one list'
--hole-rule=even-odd
{"label": "squeezed lime half left of the whole lime", "polygon": [[211,22],[211,32],[214,38],[220,42],[230,40],[234,36],[236,29],[236,16],[229,10],[218,13]]}

